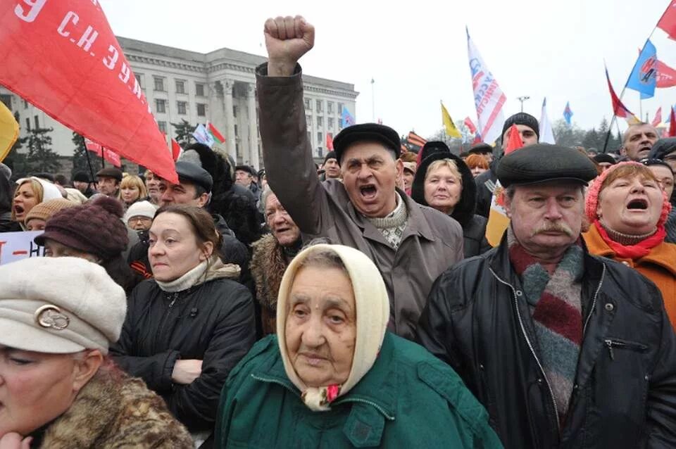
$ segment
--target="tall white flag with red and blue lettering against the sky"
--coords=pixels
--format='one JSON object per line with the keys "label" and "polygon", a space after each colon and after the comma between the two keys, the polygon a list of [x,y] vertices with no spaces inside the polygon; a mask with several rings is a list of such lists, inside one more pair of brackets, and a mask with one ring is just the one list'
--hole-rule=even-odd
{"label": "tall white flag with red and blue lettering against the sky", "polygon": [[502,125],[505,122],[502,106],[507,98],[470,39],[469,30],[467,30],[467,51],[470,57],[470,72],[472,72],[474,104],[479,118],[477,128],[482,140],[487,144],[492,144],[501,137]]}

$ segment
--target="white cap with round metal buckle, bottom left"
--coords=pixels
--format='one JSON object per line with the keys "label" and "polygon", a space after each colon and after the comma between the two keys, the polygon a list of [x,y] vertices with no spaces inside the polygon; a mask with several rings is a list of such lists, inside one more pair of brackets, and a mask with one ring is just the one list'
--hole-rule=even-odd
{"label": "white cap with round metal buckle, bottom left", "polygon": [[0,266],[0,345],[39,353],[108,353],[120,338],[125,291],[80,258],[27,258]]}

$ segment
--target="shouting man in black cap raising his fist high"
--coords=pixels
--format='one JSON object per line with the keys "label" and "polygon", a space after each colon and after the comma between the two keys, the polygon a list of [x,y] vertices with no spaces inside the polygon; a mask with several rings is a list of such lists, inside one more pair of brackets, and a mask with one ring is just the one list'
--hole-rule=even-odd
{"label": "shouting man in black cap raising his fist high", "polygon": [[268,19],[268,64],[256,70],[268,183],[303,240],[328,237],[377,265],[391,304],[389,329],[411,338],[432,282],[463,258],[458,222],[416,204],[396,179],[403,165],[394,129],[375,123],[343,129],[333,140],[343,183],[320,182],[307,139],[297,61],[314,43],[303,18]]}

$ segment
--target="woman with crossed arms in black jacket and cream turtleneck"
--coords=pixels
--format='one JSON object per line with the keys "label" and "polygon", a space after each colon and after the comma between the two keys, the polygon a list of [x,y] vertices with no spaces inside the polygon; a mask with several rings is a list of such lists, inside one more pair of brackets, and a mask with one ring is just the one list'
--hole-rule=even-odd
{"label": "woman with crossed arms in black jacket and cream turtleneck", "polygon": [[149,233],[154,279],[132,293],[116,362],[166,401],[196,444],[213,431],[218,395],[256,337],[251,293],[224,265],[211,215],[170,205]]}

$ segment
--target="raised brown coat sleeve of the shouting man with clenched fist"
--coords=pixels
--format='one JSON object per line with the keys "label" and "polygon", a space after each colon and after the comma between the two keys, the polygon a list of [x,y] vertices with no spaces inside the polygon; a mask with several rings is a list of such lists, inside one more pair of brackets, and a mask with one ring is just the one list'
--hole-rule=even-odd
{"label": "raised brown coat sleeve of the shouting man with clenched fist", "polygon": [[290,77],[268,77],[268,65],[259,65],[256,89],[268,184],[301,231],[318,234],[327,193],[308,141],[301,66]]}

